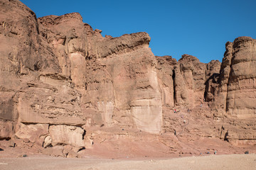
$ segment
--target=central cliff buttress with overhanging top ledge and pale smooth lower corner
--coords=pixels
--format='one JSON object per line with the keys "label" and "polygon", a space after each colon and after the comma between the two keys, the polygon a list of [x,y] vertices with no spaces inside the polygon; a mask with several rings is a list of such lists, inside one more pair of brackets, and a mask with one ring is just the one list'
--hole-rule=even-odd
{"label": "central cliff buttress with overhanging top ledge and pale smooth lower corner", "polygon": [[[80,91],[83,115],[92,123],[110,126],[117,115],[127,117],[129,126],[161,130],[161,94],[147,33],[103,38],[100,30],[82,23],[79,13],[38,21],[62,74]],[[124,113],[114,113],[115,109]]]}

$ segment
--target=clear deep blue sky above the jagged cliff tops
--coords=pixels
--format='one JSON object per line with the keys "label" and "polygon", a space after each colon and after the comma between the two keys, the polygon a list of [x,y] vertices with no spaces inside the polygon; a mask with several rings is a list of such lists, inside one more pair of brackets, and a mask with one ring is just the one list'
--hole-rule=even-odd
{"label": "clear deep blue sky above the jagged cliff tops", "polygon": [[21,0],[37,17],[79,12],[102,35],[146,32],[154,55],[222,61],[225,42],[256,38],[256,0]]}

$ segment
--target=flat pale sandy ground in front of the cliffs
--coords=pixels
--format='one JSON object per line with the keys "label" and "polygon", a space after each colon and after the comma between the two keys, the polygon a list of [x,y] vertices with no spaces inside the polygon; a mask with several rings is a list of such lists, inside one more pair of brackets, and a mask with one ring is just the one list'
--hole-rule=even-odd
{"label": "flat pale sandy ground in front of the cliffs", "polygon": [[256,154],[210,155],[174,159],[2,158],[0,159],[0,169],[256,169]]}

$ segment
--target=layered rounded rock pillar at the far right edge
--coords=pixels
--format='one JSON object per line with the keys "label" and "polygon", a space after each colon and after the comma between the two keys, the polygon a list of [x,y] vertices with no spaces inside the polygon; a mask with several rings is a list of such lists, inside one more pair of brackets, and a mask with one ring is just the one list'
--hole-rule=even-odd
{"label": "layered rounded rock pillar at the far right edge", "polygon": [[212,113],[223,121],[220,138],[235,145],[255,145],[255,57],[254,39],[227,42],[220,74],[206,86]]}

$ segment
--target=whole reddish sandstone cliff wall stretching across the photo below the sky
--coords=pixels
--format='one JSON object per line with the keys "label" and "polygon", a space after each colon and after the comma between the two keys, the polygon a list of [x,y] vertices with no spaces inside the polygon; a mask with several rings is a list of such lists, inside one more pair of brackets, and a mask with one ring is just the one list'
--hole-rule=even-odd
{"label": "whole reddish sandstone cliff wall stretching across the photo below the sky", "polygon": [[[48,154],[78,157],[94,139],[102,143],[129,136],[109,139],[112,135],[102,128],[139,130],[157,139],[162,139],[159,132],[174,132],[176,126],[183,132],[186,121],[179,125],[180,118],[167,114],[175,108],[193,109],[186,118],[206,111],[202,118],[222,121],[213,123],[220,126],[217,131],[191,127],[198,136],[234,144],[256,140],[254,39],[228,42],[221,66],[191,55],[177,62],[155,57],[147,33],[102,37],[101,30],[82,23],[79,13],[36,18],[18,0],[0,0],[0,7],[0,140],[21,139]],[[137,133],[132,134],[126,139],[134,140]]]}

